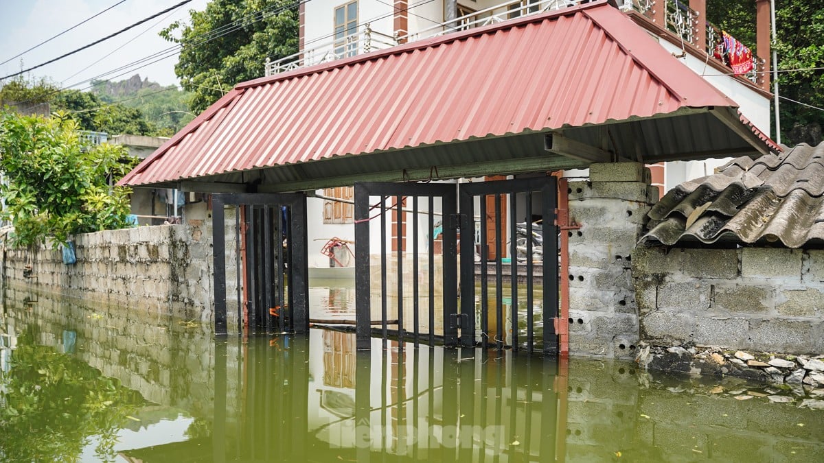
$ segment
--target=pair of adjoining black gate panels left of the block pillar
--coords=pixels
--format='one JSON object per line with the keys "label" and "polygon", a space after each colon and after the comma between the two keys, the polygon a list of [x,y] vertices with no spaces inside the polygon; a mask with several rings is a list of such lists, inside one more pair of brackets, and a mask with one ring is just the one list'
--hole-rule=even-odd
{"label": "pair of adjoining black gate panels left of the block pillar", "polygon": [[[455,208],[456,192],[460,196],[460,213],[456,213]],[[493,201],[491,207],[488,200]],[[415,345],[421,340],[428,344],[438,340],[445,345],[455,345],[460,330],[462,346],[488,347],[494,343],[498,348],[557,353],[557,202],[557,180],[549,175],[468,183],[457,188],[454,184],[432,183],[356,184],[358,349],[369,348],[372,325],[380,324],[384,347],[390,334],[400,341],[410,336]],[[440,206],[440,212],[436,206]],[[480,220],[475,216],[476,211]],[[393,215],[394,221],[388,227],[387,213]],[[405,219],[404,213],[411,213],[411,220]],[[435,222],[438,215],[440,227]],[[370,227],[373,219],[380,223],[379,233],[373,233]],[[424,221],[426,252],[422,253],[419,235],[420,222]],[[406,230],[408,223],[411,233]],[[480,224],[480,230],[476,224]],[[494,235],[490,236],[488,229],[494,231]],[[442,247],[436,253],[439,232],[442,232]],[[507,232],[508,240],[503,237]],[[388,240],[391,250],[386,246],[389,236],[392,236]],[[404,246],[406,237],[412,241],[410,248]],[[376,239],[380,242],[380,253],[372,256],[370,243]],[[460,311],[456,278],[458,244]],[[504,258],[507,251],[509,257]],[[438,263],[442,262],[439,278],[436,278],[436,258]],[[379,288],[377,284],[372,288],[374,278],[380,279]],[[427,290],[421,292],[421,287]],[[442,307],[438,311],[436,291],[442,292]],[[492,303],[490,294],[494,295]],[[380,297],[379,304],[373,296]],[[410,299],[406,304],[405,297]],[[397,302],[390,304],[394,298]],[[424,304],[421,304],[422,298]],[[508,299],[508,313],[504,309],[504,298]],[[536,303],[540,305],[540,319],[536,319]],[[436,313],[441,320],[436,320]],[[388,326],[396,326],[396,330],[389,330]]]}

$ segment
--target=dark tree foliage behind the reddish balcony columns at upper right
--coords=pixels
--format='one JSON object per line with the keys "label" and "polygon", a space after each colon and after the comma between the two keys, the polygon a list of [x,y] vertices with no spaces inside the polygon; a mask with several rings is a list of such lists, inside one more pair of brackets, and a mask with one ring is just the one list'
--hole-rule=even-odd
{"label": "dark tree foliage behind the reddish balcony columns at upper right", "polygon": [[[707,19],[754,48],[755,7],[752,0],[707,2]],[[793,101],[824,108],[824,0],[776,0],[775,24],[781,141],[820,143],[824,113]]]}

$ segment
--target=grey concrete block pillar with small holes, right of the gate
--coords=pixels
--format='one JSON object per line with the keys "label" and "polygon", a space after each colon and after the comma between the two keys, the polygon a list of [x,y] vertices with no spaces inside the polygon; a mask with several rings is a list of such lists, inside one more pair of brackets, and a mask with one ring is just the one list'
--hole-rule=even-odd
{"label": "grey concrete block pillar with small holes, right of the gate", "polygon": [[592,164],[569,183],[569,352],[632,358],[639,339],[632,253],[658,189],[638,162]]}

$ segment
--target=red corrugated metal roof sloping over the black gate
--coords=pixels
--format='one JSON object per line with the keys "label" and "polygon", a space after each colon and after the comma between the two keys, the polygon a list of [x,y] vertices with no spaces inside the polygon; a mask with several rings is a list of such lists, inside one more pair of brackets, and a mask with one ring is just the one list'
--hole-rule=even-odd
{"label": "red corrugated metal roof sloping over the black gate", "polygon": [[245,82],[120,181],[737,106],[606,2]]}

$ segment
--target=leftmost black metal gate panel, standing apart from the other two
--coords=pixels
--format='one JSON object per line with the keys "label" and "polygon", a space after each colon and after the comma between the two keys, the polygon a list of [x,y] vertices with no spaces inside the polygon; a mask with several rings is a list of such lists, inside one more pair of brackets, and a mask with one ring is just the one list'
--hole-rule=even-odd
{"label": "leftmost black metal gate panel, standing apart from the other two", "polygon": [[212,206],[215,334],[227,334],[227,263],[234,268],[239,333],[307,331],[306,195],[214,194]]}

